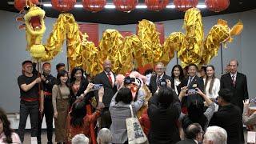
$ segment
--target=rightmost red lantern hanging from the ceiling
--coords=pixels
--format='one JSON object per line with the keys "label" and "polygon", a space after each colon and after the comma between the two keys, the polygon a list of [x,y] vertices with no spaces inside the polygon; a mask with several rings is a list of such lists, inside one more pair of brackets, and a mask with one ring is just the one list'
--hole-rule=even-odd
{"label": "rightmost red lantern hanging from the ceiling", "polygon": [[226,10],[230,6],[230,0],[206,0],[205,3],[207,8],[214,12]]}

